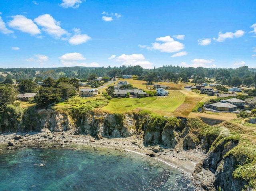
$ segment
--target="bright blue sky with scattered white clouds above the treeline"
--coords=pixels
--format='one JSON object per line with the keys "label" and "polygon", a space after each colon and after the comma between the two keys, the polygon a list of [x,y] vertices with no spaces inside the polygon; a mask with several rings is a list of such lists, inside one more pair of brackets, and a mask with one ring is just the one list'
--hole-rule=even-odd
{"label": "bright blue sky with scattered white clouds above the treeline", "polygon": [[256,68],[255,0],[2,0],[0,67]]}

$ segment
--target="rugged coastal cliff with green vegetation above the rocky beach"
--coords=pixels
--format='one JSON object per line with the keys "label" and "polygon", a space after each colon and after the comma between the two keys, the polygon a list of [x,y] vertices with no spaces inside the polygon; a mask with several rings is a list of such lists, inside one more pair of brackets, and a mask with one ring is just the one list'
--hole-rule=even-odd
{"label": "rugged coastal cliff with green vegetation above the rocky beach", "polygon": [[[24,112],[20,123],[6,122],[1,126],[2,132],[43,129],[50,132],[71,130],[74,135],[90,135],[95,140],[103,137],[125,138],[136,135],[143,138],[144,146],[159,145],[160,148],[183,150],[197,148],[206,153],[206,158],[198,163],[193,173],[194,177],[202,171],[202,168],[214,173],[213,180],[202,184],[204,189],[253,190],[255,186],[253,175],[248,178],[244,176],[244,171],[238,171],[254,160],[250,158],[248,161],[248,155],[244,155],[243,152],[239,154],[236,148],[241,137],[230,132],[225,124],[209,126],[199,118],[164,117],[143,110],[120,114],[104,112],[100,109],[80,112],[79,110],[36,110],[32,107]],[[155,152],[158,151],[159,149]]]}

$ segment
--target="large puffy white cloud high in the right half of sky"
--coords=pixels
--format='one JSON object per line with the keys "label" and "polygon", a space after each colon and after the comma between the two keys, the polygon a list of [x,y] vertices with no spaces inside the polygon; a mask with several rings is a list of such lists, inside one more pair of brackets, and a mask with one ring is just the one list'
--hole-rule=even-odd
{"label": "large puffy white cloud high in the right half of sky", "polygon": [[[154,42],[151,43],[152,46],[147,46],[149,50],[159,50],[161,52],[178,52],[185,48],[184,44],[180,43],[179,41],[175,41],[170,36],[165,37],[158,37],[156,41],[162,41],[162,43]],[[144,45],[139,45],[140,47],[144,47]]]}

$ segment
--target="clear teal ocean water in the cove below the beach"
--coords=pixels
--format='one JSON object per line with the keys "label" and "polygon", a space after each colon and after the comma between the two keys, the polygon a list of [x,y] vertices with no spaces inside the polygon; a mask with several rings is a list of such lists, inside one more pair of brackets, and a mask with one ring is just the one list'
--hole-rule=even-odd
{"label": "clear teal ocean water in the cove below the beach", "polygon": [[21,148],[0,155],[1,191],[194,191],[178,169],[106,148]]}

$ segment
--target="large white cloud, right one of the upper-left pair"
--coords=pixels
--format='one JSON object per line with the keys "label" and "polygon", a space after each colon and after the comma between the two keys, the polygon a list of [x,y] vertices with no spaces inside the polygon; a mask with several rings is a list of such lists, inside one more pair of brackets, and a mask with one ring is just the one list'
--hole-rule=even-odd
{"label": "large white cloud, right one of the upper-left pair", "polygon": [[42,30],[55,38],[68,35],[68,32],[60,27],[60,22],[56,21],[51,15],[44,14],[34,19],[36,24],[43,27]]}

